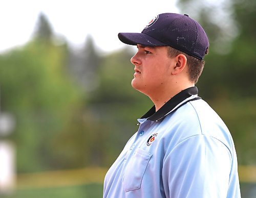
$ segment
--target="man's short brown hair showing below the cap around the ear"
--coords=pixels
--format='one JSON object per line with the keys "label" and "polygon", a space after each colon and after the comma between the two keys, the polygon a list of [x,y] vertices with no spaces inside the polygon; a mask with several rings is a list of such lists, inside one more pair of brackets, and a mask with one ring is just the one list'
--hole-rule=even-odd
{"label": "man's short brown hair showing below the cap around the ear", "polygon": [[[179,50],[176,50],[175,48],[171,46],[167,46],[167,55],[170,58],[176,57],[179,54],[183,54],[187,58],[187,65],[188,65],[188,73],[189,73],[189,80],[191,82],[195,82],[195,84],[198,82],[199,77],[201,76],[201,73],[204,68],[205,61],[199,60],[193,56],[189,56],[184,52],[181,52]],[[205,54],[208,54],[208,49]]]}

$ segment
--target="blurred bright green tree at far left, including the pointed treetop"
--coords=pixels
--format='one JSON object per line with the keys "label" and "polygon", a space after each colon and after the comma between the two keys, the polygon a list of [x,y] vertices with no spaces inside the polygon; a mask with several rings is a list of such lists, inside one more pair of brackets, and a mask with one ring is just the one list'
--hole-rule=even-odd
{"label": "blurred bright green tree at far left, including the pointed treetop", "polygon": [[0,56],[2,105],[16,116],[13,139],[17,168],[23,172],[58,166],[54,138],[82,102],[65,70],[66,44],[51,41],[50,25],[42,15],[38,27],[32,41]]}

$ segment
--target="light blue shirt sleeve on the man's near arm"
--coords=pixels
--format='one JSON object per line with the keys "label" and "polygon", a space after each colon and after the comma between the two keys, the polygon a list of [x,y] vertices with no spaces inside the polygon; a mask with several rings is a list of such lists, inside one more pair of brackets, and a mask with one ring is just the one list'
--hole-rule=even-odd
{"label": "light blue shirt sleeve on the man's near arm", "polygon": [[227,197],[232,152],[220,140],[191,136],[169,149],[163,160],[166,197]]}

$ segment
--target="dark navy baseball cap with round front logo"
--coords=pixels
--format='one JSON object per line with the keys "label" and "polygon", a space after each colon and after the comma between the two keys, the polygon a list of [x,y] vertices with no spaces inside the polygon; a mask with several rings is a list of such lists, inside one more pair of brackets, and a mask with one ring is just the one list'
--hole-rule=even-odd
{"label": "dark navy baseball cap with round front logo", "polygon": [[177,50],[203,60],[209,41],[200,24],[188,15],[162,13],[153,18],[141,33],[119,33],[125,44],[172,46]]}

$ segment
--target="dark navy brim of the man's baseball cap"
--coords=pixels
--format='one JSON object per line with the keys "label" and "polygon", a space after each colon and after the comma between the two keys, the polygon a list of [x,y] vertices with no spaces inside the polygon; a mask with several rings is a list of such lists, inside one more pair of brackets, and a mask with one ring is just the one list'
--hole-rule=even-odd
{"label": "dark navy brim of the man's baseball cap", "polygon": [[156,40],[144,33],[119,33],[118,38],[125,44],[129,45],[146,45],[146,46],[166,46],[167,44]]}

